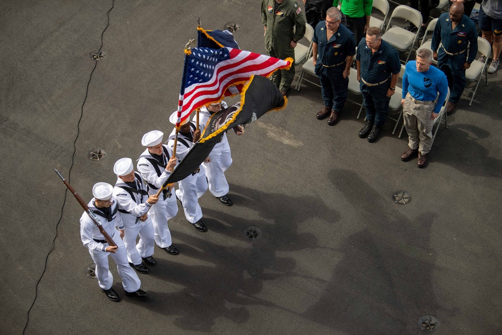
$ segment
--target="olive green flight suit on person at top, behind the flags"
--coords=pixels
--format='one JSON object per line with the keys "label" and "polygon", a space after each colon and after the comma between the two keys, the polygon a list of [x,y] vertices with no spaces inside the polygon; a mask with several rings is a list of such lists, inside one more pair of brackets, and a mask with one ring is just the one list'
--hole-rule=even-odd
{"label": "olive green flight suit on person at top, behind the flags", "polygon": [[[272,57],[295,59],[295,49],[290,48],[292,40],[299,41],[305,35],[305,20],[298,3],[284,0],[277,12],[274,10],[275,0],[263,0],[262,23],[265,31],[265,49]],[[296,29],[295,29],[296,27]],[[293,29],[295,29],[293,33]],[[295,64],[289,70],[277,70],[272,75],[272,82],[280,90],[286,91],[295,77]]]}

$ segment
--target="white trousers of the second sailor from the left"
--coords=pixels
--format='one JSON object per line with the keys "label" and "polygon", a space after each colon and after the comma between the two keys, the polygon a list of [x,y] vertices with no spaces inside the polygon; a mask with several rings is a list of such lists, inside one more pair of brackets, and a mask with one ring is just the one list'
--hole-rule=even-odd
{"label": "white trousers of the second sailor from the left", "polygon": [[[152,208],[153,209],[153,208]],[[150,211],[149,211],[150,213]],[[131,215],[131,214],[125,214]],[[140,235],[140,242],[136,244],[136,238]],[[127,249],[127,258],[134,265],[141,264],[142,257],[149,257],[154,254],[154,226],[150,216],[142,222],[124,224],[124,245]]]}

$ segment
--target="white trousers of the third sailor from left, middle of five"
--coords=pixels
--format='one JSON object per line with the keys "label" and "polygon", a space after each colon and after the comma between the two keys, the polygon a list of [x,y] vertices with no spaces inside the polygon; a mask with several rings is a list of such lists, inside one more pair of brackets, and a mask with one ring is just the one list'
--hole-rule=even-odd
{"label": "white trousers of the third sailor from left, middle of five", "polygon": [[152,206],[148,211],[148,215],[152,218],[152,223],[155,230],[155,243],[161,248],[170,247],[173,244],[171,239],[171,231],[167,222],[176,216],[178,213],[178,204],[174,195],[174,188],[170,198],[164,200],[161,193],[159,201]]}

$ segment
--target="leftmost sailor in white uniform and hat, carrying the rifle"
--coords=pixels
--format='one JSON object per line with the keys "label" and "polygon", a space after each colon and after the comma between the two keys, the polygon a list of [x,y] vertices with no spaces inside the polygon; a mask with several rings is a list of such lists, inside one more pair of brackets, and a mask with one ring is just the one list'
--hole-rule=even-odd
{"label": "leftmost sailor in white uniform and hat, carrying the rifle", "polygon": [[[126,295],[138,299],[147,297],[147,293],[140,289],[141,281],[129,266],[126,247],[122,242],[123,224],[115,198],[112,197],[113,187],[107,183],[96,183],[92,187],[94,197],[87,204],[101,222],[102,228],[111,237],[116,247],[108,246],[104,236],[94,224],[89,215],[84,212],[80,217],[80,238],[82,244],[89,249],[89,254],[96,264],[96,278],[99,287],[106,297],[112,301],[119,301],[117,292],[111,288],[113,276],[108,268],[108,255],[117,265],[117,271],[122,278],[122,286]],[[115,229],[118,228],[118,231]]]}

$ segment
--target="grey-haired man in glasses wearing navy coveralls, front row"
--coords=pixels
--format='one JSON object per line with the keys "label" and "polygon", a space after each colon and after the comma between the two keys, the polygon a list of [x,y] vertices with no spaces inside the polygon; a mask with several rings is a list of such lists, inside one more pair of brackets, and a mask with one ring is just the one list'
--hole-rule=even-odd
{"label": "grey-haired man in glasses wearing navy coveralls, front row", "polygon": [[355,55],[354,34],[340,25],[341,15],[335,7],[328,9],[326,20],[315,27],[312,40],[312,58],[324,100],[324,107],[316,117],[324,119],[331,111],[330,126],[336,123],[347,100],[348,75]]}

